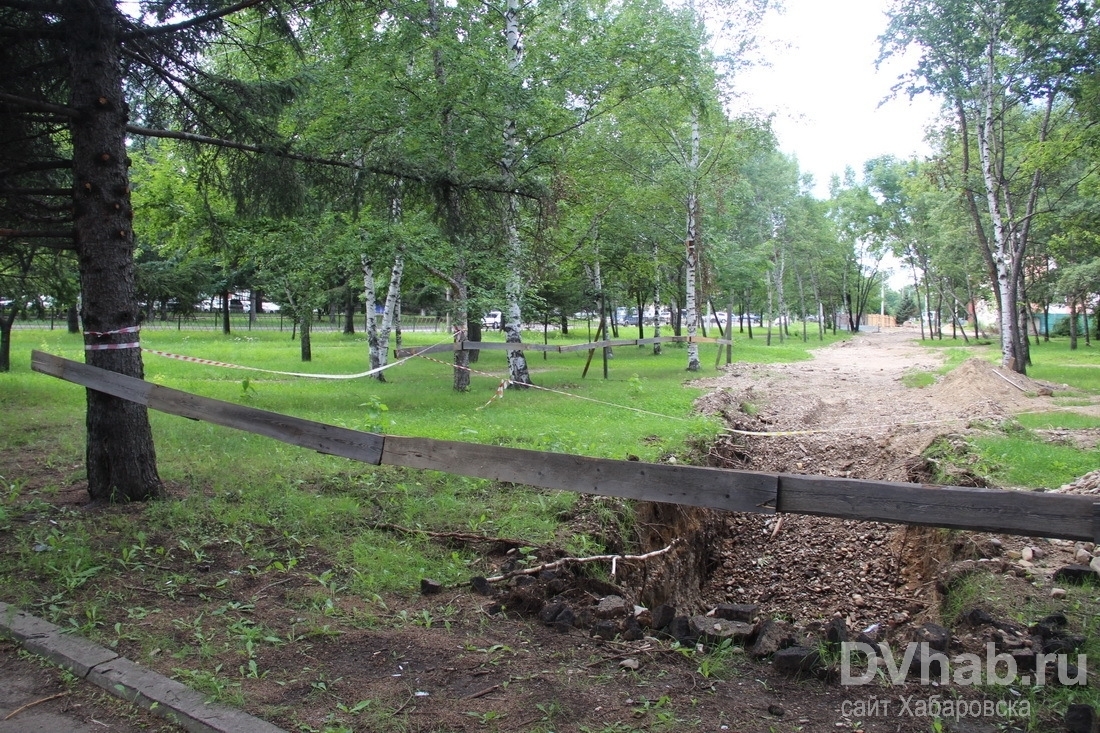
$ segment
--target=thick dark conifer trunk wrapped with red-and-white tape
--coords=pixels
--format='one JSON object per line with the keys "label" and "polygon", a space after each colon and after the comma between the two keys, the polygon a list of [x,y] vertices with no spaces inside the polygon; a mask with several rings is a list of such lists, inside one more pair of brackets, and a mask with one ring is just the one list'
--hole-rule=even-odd
{"label": "thick dark conifer trunk wrapped with red-and-white tape", "polygon": [[[82,294],[87,363],[144,378],[136,332],[133,210],[130,204],[125,125],[118,34],[122,18],[111,0],[65,3],[69,33],[74,229]],[[146,408],[87,391],[88,493],[92,502],[129,502],[158,496],[161,479]]]}

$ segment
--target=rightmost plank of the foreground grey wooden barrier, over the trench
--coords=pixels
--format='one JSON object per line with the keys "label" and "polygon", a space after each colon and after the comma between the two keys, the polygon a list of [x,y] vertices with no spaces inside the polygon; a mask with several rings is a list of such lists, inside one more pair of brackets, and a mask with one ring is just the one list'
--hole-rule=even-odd
{"label": "rightmost plank of the foreground grey wooden barrier, over the trench", "polygon": [[846,519],[1091,540],[1092,499],[783,473],[779,477],[778,510]]}

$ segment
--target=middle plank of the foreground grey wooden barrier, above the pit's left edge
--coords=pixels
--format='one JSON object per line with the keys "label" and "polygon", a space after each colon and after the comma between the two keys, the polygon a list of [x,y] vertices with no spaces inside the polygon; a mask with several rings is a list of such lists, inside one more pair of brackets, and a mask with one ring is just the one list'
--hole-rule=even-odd
{"label": "middle plank of the foreground grey wooden barrier, above the pit's left edge", "polygon": [[774,512],[777,475],[694,466],[616,461],[522,448],[386,437],[383,464],[495,481],[690,504],[727,512]]}

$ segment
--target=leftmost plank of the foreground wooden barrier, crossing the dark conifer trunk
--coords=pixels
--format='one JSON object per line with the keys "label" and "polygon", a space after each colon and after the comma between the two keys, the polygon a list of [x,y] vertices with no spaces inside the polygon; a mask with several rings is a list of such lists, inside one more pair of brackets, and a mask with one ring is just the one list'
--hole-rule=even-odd
{"label": "leftmost plank of the foreground wooden barrier, crossing the dark conifer trunk", "polygon": [[31,369],[172,415],[246,430],[320,453],[341,456],[375,466],[382,460],[383,437],[373,433],[349,430],[231,402],[200,397],[42,351],[31,352]]}

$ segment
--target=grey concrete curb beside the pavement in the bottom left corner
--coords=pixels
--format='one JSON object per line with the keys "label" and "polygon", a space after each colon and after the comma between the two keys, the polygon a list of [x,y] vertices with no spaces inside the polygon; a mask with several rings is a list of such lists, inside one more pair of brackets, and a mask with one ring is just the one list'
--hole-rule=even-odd
{"label": "grey concrete curb beside the pavement in the bottom left corner", "polygon": [[0,636],[189,733],[286,733],[243,710],[207,702],[185,685],[3,602]]}

